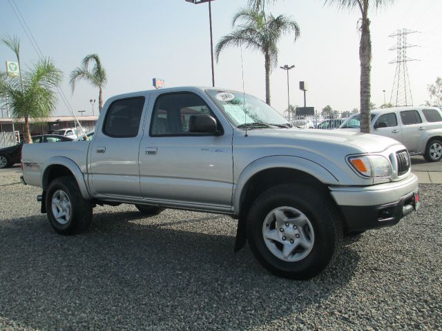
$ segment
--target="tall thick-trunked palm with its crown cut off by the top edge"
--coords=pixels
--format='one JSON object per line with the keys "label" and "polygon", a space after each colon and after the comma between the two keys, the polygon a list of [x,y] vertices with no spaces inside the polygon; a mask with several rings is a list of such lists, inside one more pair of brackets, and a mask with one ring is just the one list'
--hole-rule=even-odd
{"label": "tall thick-trunked palm with its crown cut off by the top edge", "polygon": [[361,41],[359,42],[359,61],[361,62],[361,132],[370,132],[370,97],[371,97],[371,81],[370,74],[372,71],[372,39],[370,35],[370,20],[368,18],[368,10],[370,5],[375,9],[381,8],[394,0],[324,0],[331,6],[338,9],[353,10],[358,8],[361,11]]}

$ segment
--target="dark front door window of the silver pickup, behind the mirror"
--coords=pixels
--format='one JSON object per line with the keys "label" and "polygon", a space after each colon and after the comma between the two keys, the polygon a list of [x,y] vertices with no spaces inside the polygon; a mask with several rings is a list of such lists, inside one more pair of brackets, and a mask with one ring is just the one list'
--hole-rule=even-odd
{"label": "dark front door window of the silver pickup, behind the mirror", "polygon": [[189,119],[194,114],[213,116],[209,106],[196,94],[184,92],[160,95],[153,109],[151,136],[201,135],[189,132]]}

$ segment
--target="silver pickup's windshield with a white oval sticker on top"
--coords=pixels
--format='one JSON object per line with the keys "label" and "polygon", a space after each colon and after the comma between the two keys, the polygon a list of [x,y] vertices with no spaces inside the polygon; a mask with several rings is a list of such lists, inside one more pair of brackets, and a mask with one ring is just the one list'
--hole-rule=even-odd
{"label": "silver pickup's windshield with a white oval sticker on top", "polygon": [[279,112],[250,94],[222,90],[206,90],[206,93],[237,128],[291,128]]}

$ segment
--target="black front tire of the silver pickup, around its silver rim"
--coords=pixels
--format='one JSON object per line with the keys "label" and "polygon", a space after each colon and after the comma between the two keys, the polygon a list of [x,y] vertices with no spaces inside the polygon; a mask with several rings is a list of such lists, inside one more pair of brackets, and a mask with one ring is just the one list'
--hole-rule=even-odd
{"label": "black front tire of the silver pickup, around its silver rim", "polygon": [[[307,228],[309,239],[311,239],[309,229],[313,230],[312,248],[309,251],[305,250],[304,253],[307,255],[299,261],[284,261],[271,252],[265,242],[263,232],[265,226],[268,226],[265,222],[266,217],[271,215],[273,211],[279,210],[278,208],[289,208],[302,213],[302,217],[305,216],[311,225]],[[285,216],[290,217],[289,214],[285,214]],[[274,221],[276,222],[276,216]],[[287,226],[287,223],[285,224]],[[305,225],[300,226],[303,228],[301,237],[305,237],[305,233],[307,233],[304,227]],[[278,234],[285,233],[287,236],[289,231],[297,231],[291,230],[291,225],[287,229],[285,232],[279,232],[276,228],[274,230]],[[300,238],[298,234],[296,236],[296,238]],[[247,217],[247,237],[256,259],[267,270],[279,277],[310,279],[325,270],[340,251],[343,245],[343,228],[340,212],[329,197],[307,185],[285,184],[266,190],[253,203]],[[273,251],[275,251],[278,250],[278,245],[283,247],[288,244],[288,241],[283,241],[285,244],[282,244],[282,241],[274,241],[273,243]],[[291,258],[296,259],[296,254],[293,254]],[[300,255],[302,256],[302,254]]]}

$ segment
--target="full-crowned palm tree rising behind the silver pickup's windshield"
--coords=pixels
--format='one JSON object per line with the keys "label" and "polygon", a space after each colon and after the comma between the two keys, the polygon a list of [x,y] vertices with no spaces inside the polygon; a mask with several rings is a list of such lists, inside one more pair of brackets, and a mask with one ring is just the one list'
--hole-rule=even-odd
{"label": "full-crowned palm tree rising behind the silver pickup's windshield", "polygon": [[[242,24],[236,26],[237,21],[242,21]],[[269,14],[266,17],[263,11],[242,9],[233,16],[232,26],[236,30],[222,37],[216,45],[216,61],[228,46],[244,45],[262,52],[265,58],[265,102],[270,104],[270,72],[278,63],[277,43],[282,34],[289,32],[294,32],[296,41],[300,35],[298,23],[283,15],[273,17]]]}

